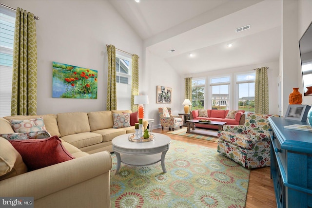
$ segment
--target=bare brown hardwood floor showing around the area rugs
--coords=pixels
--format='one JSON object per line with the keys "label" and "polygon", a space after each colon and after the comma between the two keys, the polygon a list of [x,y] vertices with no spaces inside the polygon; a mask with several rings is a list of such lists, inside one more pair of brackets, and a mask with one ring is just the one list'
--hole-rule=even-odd
{"label": "bare brown hardwood floor showing around the area rugs", "polygon": [[[168,128],[164,128],[164,130],[161,130],[161,128],[153,129],[153,132],[165,133],[174,140],[217,148],[217,142],[166,133],[169,132]],[[250,171],[246,208],[276,208],[273,181],[270,178],[270,167],[257,168]]]}

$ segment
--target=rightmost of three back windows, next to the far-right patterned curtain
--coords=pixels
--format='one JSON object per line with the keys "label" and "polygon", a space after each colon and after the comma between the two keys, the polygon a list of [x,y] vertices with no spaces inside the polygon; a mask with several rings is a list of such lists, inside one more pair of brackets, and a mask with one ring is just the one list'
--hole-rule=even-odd
{"label": "rightmost of three back windows, next to the far-right patterned curtain", "polygon": [[254,113],[254,81],[254,72],[236,76],[238,110]]}

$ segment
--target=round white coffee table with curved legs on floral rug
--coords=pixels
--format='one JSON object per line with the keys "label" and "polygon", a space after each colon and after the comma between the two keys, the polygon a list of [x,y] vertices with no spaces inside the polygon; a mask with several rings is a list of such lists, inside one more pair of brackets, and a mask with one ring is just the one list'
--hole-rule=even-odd
{"label": "round white coffee table with curved legs on floral rug", "polygon": [[120,163],[131,166],[149,166],[161,161],[163,172],[167,172],[165,167],[165,156],[169,150],[171,139],[161,133],[153,133],[155,139],[149,142],[131,142],[128,137],[131,133],[123,134],[112,140],[113,151],[117,157],[118,173]]}

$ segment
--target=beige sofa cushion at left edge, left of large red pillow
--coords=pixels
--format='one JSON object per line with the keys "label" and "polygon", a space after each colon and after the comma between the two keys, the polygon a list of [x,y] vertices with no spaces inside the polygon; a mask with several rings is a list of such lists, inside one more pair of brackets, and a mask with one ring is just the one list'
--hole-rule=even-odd
{"label": "beige sofa cushion at left edge, left of large red pillow", "polygon": [[27,172],[20,153],[12,144],[0,137],[0,180]]}

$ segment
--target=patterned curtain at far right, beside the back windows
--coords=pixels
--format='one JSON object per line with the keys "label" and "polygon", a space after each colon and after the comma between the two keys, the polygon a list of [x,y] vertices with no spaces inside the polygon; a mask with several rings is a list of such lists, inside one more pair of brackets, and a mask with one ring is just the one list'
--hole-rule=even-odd
{"label": "patterned curtain at far right, beside the back windows", "polygon": [[255,73],[255,97],[254,97],[254,113],[269,113],[269,82],[268,67],[256,69]]}

